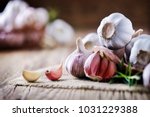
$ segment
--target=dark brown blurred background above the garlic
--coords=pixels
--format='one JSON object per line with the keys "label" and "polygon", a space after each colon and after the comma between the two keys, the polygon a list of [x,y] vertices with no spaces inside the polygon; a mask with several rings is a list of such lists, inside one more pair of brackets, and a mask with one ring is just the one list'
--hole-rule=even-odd
{"label": "dark brown blurred background above the garlic", "polygon": [[[2,11],[9,0],[0,0]],[[113,12],[127,16],[135,29],[150,30],[149,0],[26,0],[34,7],[56,9],[75,28],[97,28],[101,19]]]}

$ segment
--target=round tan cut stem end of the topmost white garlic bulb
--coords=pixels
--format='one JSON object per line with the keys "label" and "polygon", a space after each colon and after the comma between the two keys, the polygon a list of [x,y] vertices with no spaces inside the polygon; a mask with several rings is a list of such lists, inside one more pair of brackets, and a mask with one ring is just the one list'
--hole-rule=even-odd
{"label": "round tan cut stem end of the topmost white garlic bulb", "polygon": [[113,23],[106,23],[102,29],[102,36],[109,40],[115,33],[115,26]]}

